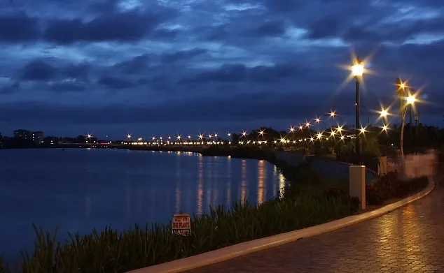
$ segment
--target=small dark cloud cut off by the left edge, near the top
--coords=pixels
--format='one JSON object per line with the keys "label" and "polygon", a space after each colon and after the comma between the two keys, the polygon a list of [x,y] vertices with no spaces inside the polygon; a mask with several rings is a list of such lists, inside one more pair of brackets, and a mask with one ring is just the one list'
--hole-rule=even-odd
{"label": "small dark cloud cut off by the left edge, near the top", "polygon": [[0,15],[0,42],[19,43],[39,37],[39,24],[24,12]]}

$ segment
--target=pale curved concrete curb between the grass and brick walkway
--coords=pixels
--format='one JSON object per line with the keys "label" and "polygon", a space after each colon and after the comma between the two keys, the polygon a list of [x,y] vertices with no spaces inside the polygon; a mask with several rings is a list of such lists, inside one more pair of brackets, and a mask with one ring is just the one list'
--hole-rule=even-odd
{"label": "pale curved concrete curb between the grass and brick walkway", "polygon": [[162,263],[160,265],[153,265],[151,267],[144,267],[139,270],[132,270],[127,273],[173,273],[173,272],[183,272],[186,270],[193,270],[197,267],[204,267],[205,265],[211,265],[214,263],[219,263],[224,260],[230,260],[240,256],[247,255],[256,251],[261,251],[265,249],[271,249],[275,246],[280,246],[282,244],[288,244],[290,242],[295,242],[298,239],[303,239],[307,237],[312,237],[316,235],[321,235],[323,233],[328,233],[339,228],[345,228],[346,226],[351,226],[355,223],[360,223],[368,219],[373,219],[378,216],[382,216],[394,209],[403,207],[410,202],[424,197],[429,194],[435,186],[433,178],[429,177],[429,184],[426,189],[416,193],[415,195],[410,195],[408,198],[399,200],[390,205],[380,207],[371,212],[365,212],[363,214],[347,216],[345,218],[331,221],[328,223],[323,223],[318,226],[312,226],[310,228],[303,228],[301,230],[294,230],[289,233],[282,233],[270,237],[265,237],[262,239],[255,239],[249,242],[243,242],[240,244],[234,244],[233,246],[227,246],[223,249],[217,249],[214,251],[209,251],[196,256],[190,256],[187,258],[182,258],[179,260],[173,260],[168,263]]}

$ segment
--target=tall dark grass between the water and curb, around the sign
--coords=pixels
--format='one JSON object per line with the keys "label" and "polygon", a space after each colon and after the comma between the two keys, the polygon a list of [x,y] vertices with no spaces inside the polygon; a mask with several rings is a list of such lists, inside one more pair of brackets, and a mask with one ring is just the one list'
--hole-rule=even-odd
{"label": "tall dark grass between the water and curb, around the sign", "polygon": [[236,202],[230,209],[210,208],[209,214],[193,217],[189,237],[174,236],[171,226],[154,224],[134,226],[122,233],[107,227],[102,232],[92,230],[90,235],[70,235],[67,242],[59,242],[57,232],[51,234],[34,226],[34,251],[23,253],[13,270],[0,259],[0,272],[126,272],[325,223],[351,212],[351,205],[341,197],[322,194],[310,185],[300,188],[298,194],[263,205]]}

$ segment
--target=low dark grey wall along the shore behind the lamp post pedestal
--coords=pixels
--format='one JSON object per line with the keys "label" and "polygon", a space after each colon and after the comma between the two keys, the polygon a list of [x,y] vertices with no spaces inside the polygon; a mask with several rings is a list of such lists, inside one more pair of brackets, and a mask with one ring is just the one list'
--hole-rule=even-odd
{"label": "low dark grey wall along the shore behind the lamp post pedestal", "polygon": [[[302,154],[290,154],[281,151],[275,151],[275,156],[282,161],[286,161],[292,166],[297,166],[303,161]],[[311,167],[315,172],[331,179],[349,179],[349,164],[341,163],[333,159],[307,156],[307,161],[311,161]],[[377,178],[377,175],[370,170],[366,170],[366,183],[370,184]]]}

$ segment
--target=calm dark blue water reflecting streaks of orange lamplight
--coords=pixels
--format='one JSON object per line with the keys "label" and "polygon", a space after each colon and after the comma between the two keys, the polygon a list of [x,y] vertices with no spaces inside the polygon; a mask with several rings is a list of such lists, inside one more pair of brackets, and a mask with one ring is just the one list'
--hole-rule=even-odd
{"label": "calm dark blue water reflecting streaks of orange lamplight", "polygon": [[90,233],[168,223],[179,211],[207,212],[279,195],[284,178],[266,161],[122,149],[0,150],[0,255],[30,249],[32,223]]}

